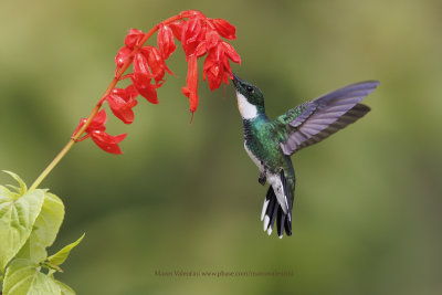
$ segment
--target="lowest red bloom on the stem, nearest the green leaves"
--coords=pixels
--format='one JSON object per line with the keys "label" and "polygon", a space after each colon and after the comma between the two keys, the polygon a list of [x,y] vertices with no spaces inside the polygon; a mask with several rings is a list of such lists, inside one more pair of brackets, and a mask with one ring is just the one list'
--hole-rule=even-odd
{"label": "lowest red bloom on the stem, nearest the green leaves", "polygon": [[[76,127],[76,129],[72,136],[75,136],[75,134],[80,130],[80,128],[83,127],[83,125],[86,123],[86,120],[87,120],[86,118],[83,118],[80,120],[78,127]],[[102,109],[91,122],[91,125],[86,128],[87,135],[83,136],[82,138],[78,138],[76,141],[82,141],[82,140],[91,137],[92,140],[94,140],[94,143],[104,151],[115,154],[115,155],[123,154],[118,147],[118,143],[120,143],[123,139],[125,139],[127,134],[122,134],[122,135],[117,135],[117,136],[112,136],[112,135],[106,134],[105,133],[106,122],[107,122],[106,112],[104,109]]]}

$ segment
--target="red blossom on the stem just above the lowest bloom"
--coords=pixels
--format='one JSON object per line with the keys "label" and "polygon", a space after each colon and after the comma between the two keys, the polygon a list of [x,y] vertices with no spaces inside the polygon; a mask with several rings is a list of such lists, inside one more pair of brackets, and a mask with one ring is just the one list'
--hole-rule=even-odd
{"label": "red blossom on the stem just above the lowest bloom", "polygon": [[112,113],[123,120],[125,124],[130,124],[134,122],[134,110],[138,102],[135,98],[138,96],[134,85],[128,87],[114,88],[109,95],[106,96],[106,101],[109,104]]}

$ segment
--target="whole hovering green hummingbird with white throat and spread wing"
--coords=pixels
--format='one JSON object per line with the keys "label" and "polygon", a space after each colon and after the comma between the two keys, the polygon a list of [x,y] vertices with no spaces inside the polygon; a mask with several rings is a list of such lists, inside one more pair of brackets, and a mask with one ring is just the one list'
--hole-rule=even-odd
{"label": "whole hovering green hummingbird with white throat and spread wing", "polygon": [[260,169],[257,181],[270,187],[261,221],[269,235],[276,220],[277,234],[292,235],[295,170],[291,156],[343,129],[370,108],[359,104],[378,85],[377,81],[356,83],[290,109],[274,120],[265,115],[262,92],[233,74],[238,108],[242,116],[244,148]]}

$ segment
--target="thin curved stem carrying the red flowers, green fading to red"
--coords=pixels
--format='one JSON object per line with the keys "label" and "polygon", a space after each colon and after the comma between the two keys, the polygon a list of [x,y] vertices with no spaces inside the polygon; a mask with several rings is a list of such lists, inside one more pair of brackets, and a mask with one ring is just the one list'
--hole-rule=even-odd
{"label": "thin curved stem carrying the red flowers, green fading to red", "polygon": [[[171,17],[171,18],[165,20],[161,23],[166,23],[167,24],[167,23],[171,23],[171,22],[177,21],[177,20],[181,20],[183,18],[185,18],[183,15],[175,15],[175,17]],[[139,49],[147,42],[147,40],[156,31],[158,31],[158,28],[159,28],[159,25],[157,24],[152,29],[150,29],[149,32],[146,33],[146,35],[139,42],[140,45],[134,49],[133,55],[139,51]],[[64,148],[59,152],[59,155],[56,155],[56,157],[50,162],[50,165],[48,165],[48,167],[43,170],[43,172],[41,172],[41,175],[35,179],[35,181],[29,188],[30,191],[33,190],[33,189],[36,189],[40,186],[40,183],[43,181],[43,179],[52,171],[52,169],[54,169],[54,167],[60,162],[60,160],[74,146],[76,140],[80,138],[80,136],[82,136],[83,133],[87,129],[87,127],[91,125],[92,120],[95,118],[96,114],[98,113],[99,108],[102,107],[102,105],[103,105],[103,103],[105,101],[105,97],[107,95],[109,95],[112,89],[118,83],[118,81],[120,80],[122,75],[124,74],[124,72],[126,72],[127,67],[129,67],[130,64],[131,64],[131,59],[127,59],[125,64],[116,73],[114,80],[110,82],[110,84],[107,87],[107,89],[104,92],[102,98],[99,98],[98,103],[95,105],[95,107],[92,110],[91,115],[87,117],[86,123],[82,126],[82,128],[80,128],[80,130],[77,133],[75,133],[75,135],[67,141],[67,144],[64,146]]]}

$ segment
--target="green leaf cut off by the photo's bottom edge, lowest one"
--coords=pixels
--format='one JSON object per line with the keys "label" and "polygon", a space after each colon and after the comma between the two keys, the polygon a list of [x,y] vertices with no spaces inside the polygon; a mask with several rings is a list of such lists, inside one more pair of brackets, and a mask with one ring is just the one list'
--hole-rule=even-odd
{"label": "green leaf cut off by the photo's bottom edge, lowest one", "polygon": [[4,295],[61,295],[61,287],[38,264],[23,259],[11,262],[4,275]]}

